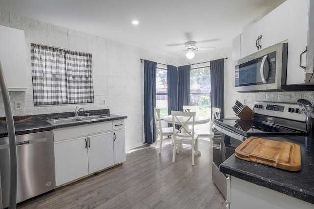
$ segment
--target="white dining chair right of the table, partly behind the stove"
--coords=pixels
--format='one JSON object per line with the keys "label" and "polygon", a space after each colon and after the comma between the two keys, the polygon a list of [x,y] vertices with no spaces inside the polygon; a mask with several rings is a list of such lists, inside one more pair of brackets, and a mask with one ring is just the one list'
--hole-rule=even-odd
{"label": "white dining chair right of the table, partly behind the stove", "polygon": [[[222,150],[222,155],[225,155],[226,153],[226,147],[224,143],[224,134],[221,132],[218,132],[217,130],[213,129],[213,124],[215,119],[220,119],[220,108],[212,107],[212,115],[211,120],[209,123],[209,129],[197,129],[195,130],[195,133],[198,134],[199,138],[209,138],[211,143],[211,148],[214,147],[214,142],[220,144],[220,148]],[[225,159],[225,158],[224,158]]]}

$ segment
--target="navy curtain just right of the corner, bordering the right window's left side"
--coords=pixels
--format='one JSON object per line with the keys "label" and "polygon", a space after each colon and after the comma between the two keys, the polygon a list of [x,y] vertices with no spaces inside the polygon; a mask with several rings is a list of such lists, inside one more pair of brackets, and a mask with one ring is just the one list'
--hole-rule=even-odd
{"label": "navy curtain just right of the corner, bordering the right window's left side", "polygon": [[191,65],[178,67],[178,111],[183,111],[183,105],[190,104],[190,77]]}

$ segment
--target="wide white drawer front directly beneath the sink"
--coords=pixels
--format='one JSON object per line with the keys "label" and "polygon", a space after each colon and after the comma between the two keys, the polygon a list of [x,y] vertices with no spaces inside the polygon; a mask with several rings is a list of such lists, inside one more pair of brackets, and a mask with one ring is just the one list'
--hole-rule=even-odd
{"label": "wide white drawer front directly beneath the sink", "polygon": [[98,132],[112,131],[112,122],[94,123],[88,125],[80,125],[75,127],[67,127],[53,130],[54,141],[61,141],[65,139],[73,139],[88,134]]}

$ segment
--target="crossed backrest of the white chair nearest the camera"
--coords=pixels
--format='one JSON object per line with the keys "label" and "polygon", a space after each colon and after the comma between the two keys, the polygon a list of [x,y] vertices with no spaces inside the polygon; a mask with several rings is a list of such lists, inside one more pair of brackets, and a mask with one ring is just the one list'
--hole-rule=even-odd
{"label": "crossed backrest of the white chair nearest the camera", "polygon": [[[195,114],[195,112],[171,111],[175,139],[194,139]],[[178,130],[175,129],[177,124],[181,125]],[[189,125],[192,127],[189,128]]]}

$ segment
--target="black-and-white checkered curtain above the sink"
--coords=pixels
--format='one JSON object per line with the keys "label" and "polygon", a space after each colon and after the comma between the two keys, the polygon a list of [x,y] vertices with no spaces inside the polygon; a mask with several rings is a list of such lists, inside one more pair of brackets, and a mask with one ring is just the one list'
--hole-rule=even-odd
{"label": "black-and-white checkered curtain above the sink", "polygon": [[94,102],[92,55],[31,44],[34,105]]}

